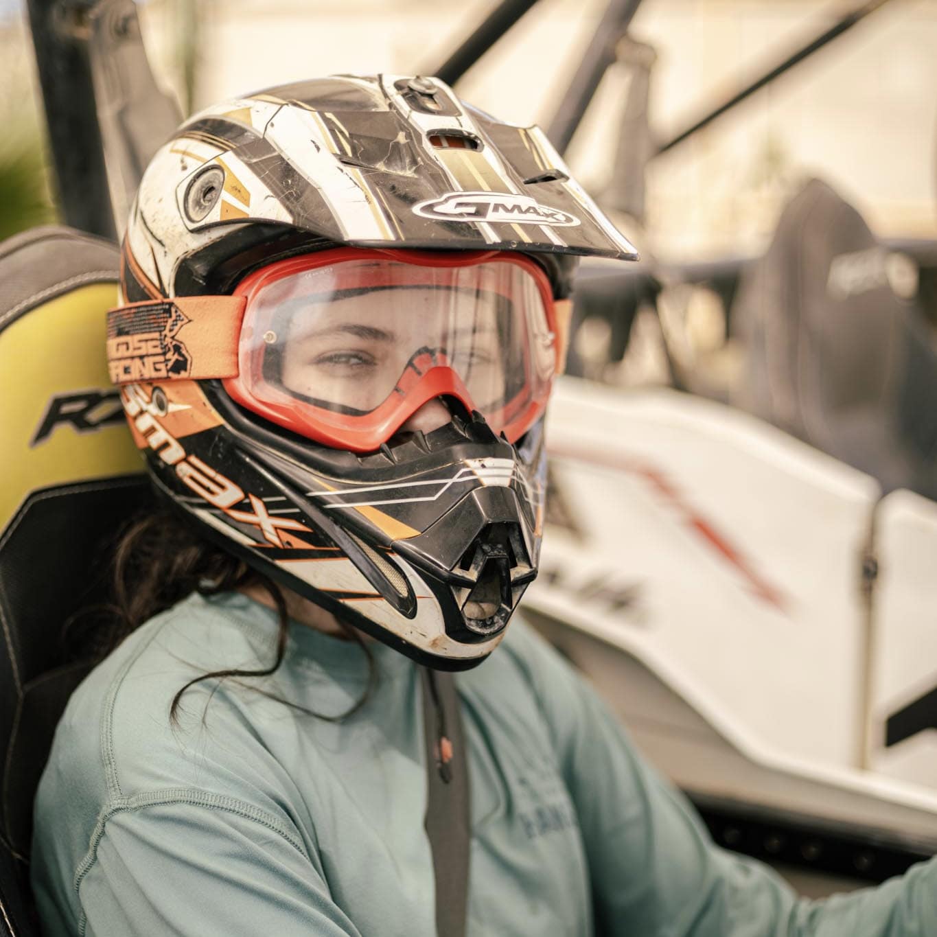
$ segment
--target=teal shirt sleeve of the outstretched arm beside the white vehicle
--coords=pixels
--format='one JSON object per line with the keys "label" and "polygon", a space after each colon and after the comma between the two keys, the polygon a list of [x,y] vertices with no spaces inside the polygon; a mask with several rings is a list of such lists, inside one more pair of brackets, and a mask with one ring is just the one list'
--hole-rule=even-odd
{"label": "teal shirt sleeve of the outstretched arm beside the white vehicle", "polygon": [[598,696],[540,640],[523,661],[578,814],[596,932],[642,937],[923,937],[937,933],[937,858],[884,885],[809,901],[717,846]]}

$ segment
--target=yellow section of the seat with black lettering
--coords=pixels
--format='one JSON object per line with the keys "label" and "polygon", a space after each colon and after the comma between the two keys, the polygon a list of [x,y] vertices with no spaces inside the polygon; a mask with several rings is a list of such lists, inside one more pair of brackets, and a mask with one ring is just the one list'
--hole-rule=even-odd
{"label": "yellow section of the seat with black lettering", "polygon": [[115,283],[84,286],[0,333],[0,530],[37,489],[141,472],[126,424],[98,425],[120,409],[104,350],[116,303]]}

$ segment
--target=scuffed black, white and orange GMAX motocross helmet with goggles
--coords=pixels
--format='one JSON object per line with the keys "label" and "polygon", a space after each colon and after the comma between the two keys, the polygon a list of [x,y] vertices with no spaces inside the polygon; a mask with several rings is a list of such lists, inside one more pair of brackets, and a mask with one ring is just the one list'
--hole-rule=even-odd
{"label": "scuffed black, white and orange GMAX motocross helmet with goggles", "polygon": [[[577,255],[637,256],[538,127],[433,78],[272,88],[192,117],[145,171],[111,376],[206,535],[466,669],[537,574]],[[449,422],[401,431],[430,400]]]}

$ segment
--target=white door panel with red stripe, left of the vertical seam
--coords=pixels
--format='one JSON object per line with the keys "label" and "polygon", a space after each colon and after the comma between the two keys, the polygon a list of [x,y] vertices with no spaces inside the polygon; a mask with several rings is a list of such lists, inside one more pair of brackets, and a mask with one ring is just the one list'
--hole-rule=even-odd
{"label": "white door panel with red stripe, left of the vertical seam", "polygon": [[591,581],[632,587],[615,627],[678,686],[768,748],[855,765],[866,647],[857,571],[877,483],[672,391],[567,380],[547,433],[552,482],[585,542],[547,530],[546,575],[528,606],[556,589],[556,569],[580,595]]}

